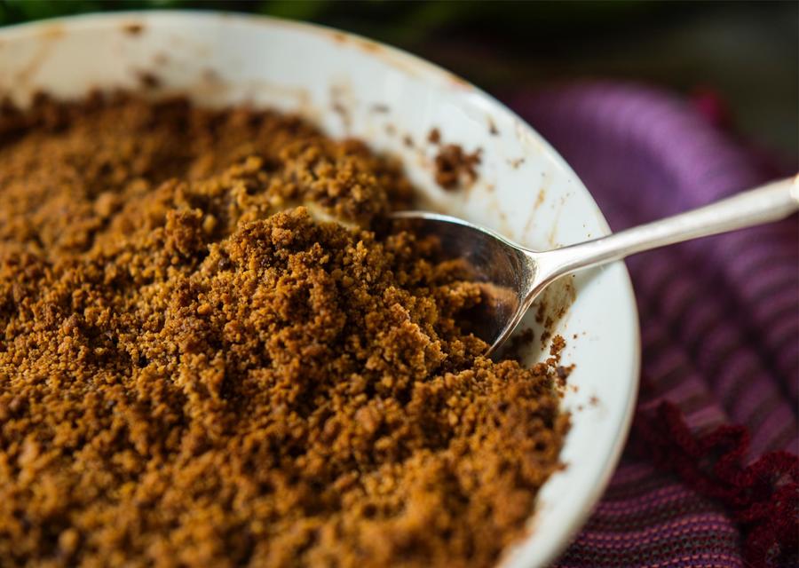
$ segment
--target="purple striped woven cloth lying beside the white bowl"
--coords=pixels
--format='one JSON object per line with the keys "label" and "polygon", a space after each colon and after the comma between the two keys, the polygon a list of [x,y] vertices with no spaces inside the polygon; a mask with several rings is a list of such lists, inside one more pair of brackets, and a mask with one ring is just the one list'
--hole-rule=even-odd
{"label": "purple striped woven cloth lying beside the white bowl", "polygon": [[[661,91],[590,83],[518,94],[510,106],[573,166],[615,231],[775,177],[706,114]],[[675,435],[684,438],[681,447],[700,448],[695,454],[713,454],[708,447],[734,438],[735,455],[724,467],[799,449],[797,225],[794,216],[628,260],[644,351],[638,412],[651,415],[668,400],[682,411],[688,431],[739,424],[716,432],[710,446]],[[785,485],[786,476],[796,476],[795,455],[768,454],[746,472],[747,483],[769,488],[728,491],[724,480],[714,486],[716,469],[700,479],[710,465],[692,469],[680,449],[647,452],[653,428],[679,430],[666,414],[653,420],[648,430],[640,421],[634,426],[633,440],[650,437],[628,444],[602,501],[558,566],[795,565],[796,485]],[[727,442],[717,441],[722,438]],[[671,459],[681,465],[669,467]],[[782,469],[774,473],[777,461]],[[744,477],[736,469],[726,480],[740,485]],[[731,503],[741,499],[760,501],[754,512],[736,513]]]}

